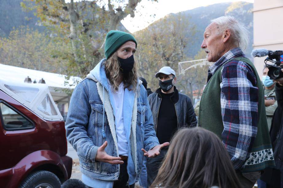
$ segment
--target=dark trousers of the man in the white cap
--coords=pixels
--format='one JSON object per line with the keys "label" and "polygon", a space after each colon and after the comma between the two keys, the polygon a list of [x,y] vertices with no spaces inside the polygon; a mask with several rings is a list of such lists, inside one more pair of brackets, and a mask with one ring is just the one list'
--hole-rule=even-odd
{"label": "dark trousers of the man in the white cap", "polygon": [[159,167],[166,156],[168,149],[161,149],[159,156],[147,158],[147,186],[149,187],[155,180]]}

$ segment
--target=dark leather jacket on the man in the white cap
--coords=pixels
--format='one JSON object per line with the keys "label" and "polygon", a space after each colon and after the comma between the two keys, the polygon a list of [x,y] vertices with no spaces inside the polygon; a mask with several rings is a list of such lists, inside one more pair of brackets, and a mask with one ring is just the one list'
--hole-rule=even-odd
{"label": "dark leather jacket on the man in the white cap", "polygon": [[[161,88],[157,89],[155,93],[148,96],[149,105],[151,108],[154,129],[156,130],[157,116],[161,103]],[[170,97],[175,105],[177,118],[178,118],[178,129],[182,127],[193,127],[197,126],[197,119],[192,105],[191,99],[183,94],[179,93],[174,86],[174,94]]]}

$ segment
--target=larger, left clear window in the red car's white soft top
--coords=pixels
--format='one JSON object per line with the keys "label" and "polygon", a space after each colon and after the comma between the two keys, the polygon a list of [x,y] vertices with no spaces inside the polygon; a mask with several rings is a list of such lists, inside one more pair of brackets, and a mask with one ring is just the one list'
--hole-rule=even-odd
{"label": "larger, left clear window in the red car's white soft top", "polygon": [[36,97],[37,93],[39,92],[38,88],[29,88],[29,87],[22,87],[16,85],[7,85],[7,84],[4,84],[4,86],[28,103],[31,103],[33,99]]}

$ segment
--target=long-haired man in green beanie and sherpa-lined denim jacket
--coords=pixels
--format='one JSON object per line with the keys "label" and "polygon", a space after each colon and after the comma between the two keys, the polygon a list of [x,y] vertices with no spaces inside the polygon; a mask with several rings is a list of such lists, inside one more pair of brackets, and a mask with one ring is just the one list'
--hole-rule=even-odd
{"label": "long-haired man in green beanie and sherpa-lined denim jacket", "polygon": [[159,144],[147,92],[134,61],[136,39],[108,32],[105,59],[75,88],[66,136],[77,151],[82,181],[89,187],[134,187],[143,157],[155,157]]}

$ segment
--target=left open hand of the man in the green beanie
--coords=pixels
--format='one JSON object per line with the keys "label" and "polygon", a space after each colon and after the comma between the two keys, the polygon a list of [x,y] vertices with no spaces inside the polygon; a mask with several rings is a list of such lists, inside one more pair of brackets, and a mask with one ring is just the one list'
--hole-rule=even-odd
{"label": "left open hand of the man in the green beanie", "polygon": [[107,146],[107,141],[105,141],[97,150],[95,160],[104,162],[104,163],[110,163],[110,164],[123,164],[124,161],[121,160],[121,157],[113,157],[108,155],[105,152],[105,148]]}

